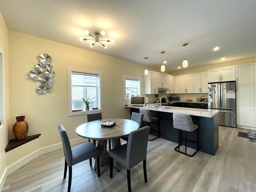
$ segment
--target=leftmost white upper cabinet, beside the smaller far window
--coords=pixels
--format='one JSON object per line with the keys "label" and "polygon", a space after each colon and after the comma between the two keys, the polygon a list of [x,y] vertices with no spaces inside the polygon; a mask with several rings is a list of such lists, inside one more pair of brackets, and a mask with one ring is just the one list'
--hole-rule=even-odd
{"label": "leftmost white upper cabinet, beside the smaller far window", "polygon": [[157,94],[158,93],[158,74],[149,71],[147,75],[144,76],[145,80],[145,94]]}

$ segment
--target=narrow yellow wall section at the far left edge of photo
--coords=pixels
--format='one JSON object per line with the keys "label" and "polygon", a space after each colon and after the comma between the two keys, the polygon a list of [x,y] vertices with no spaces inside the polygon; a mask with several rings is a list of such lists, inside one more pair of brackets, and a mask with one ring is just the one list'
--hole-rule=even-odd
{"label": "narrow yellow wall section at the far left edge of photo", "polygon": [[8,48],[8,28],[5,20],[0,12],[0,50],[3,58],[3,93],[4,93],[4,127],[0,130],[0,190],[2,188],[2,180],[5,181],[4,173],[6,169],[5,147],[8,143],[8,127],[9,127],[9,48]]}

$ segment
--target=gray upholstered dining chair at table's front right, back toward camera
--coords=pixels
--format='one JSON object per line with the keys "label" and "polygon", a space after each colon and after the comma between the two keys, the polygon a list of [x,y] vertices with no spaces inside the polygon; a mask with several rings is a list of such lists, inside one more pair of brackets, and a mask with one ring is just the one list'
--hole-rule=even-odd
{"label": "gray upholstered dining chair at table's front right, back toward camera", "polygon": [[128,143],[114,148],[110,151],[110,178],[113,178],[113,159],[119,162],[127,169],[128,191],[131,188],[131,168],[143,161],[144,181],[146,176],[146,151],[147,138],[150,134],[150,126],[142,127],[130,133]]}

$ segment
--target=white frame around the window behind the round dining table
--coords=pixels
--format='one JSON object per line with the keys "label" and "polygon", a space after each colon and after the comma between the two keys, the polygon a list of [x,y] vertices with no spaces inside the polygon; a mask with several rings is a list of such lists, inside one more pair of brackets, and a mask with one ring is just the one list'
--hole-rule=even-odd
{"label": "white frame around the window behind the round dining table", "polygon": [[[79,111],[79,112],[72,112],[72,72],[77,73],[91,73],[99,75],[100,81],[100,109],[98,110],[89,110],[89,111]],[[71,68],[68,67],[68,115],[75,116],[75,115],[85,115],[90,113],[98,113],[103,112],[103,97],[102,97],[102,72],[101,71],[94,71],[94,70],[87,70],[87,69],[79,69],[79,68]]]}

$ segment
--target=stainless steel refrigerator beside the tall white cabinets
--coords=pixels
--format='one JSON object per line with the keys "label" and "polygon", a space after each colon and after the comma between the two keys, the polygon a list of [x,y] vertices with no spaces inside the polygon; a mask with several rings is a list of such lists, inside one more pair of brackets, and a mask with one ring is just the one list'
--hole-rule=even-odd
{"label": "stainless steel refrigerator beside the tall white cabinets", "polygon": [[236,81],[208,83],[208,109],[220,110],[219,125],[236,127]]}

